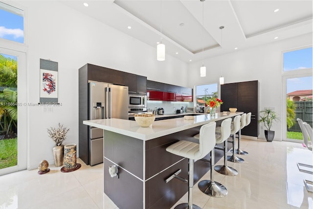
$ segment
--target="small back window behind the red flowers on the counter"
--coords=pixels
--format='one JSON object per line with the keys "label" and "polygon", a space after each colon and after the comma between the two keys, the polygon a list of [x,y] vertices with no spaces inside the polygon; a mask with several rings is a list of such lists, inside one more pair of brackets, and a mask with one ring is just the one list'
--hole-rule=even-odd
{"label": "small back window behind the red flowers on the counter", "polygon": [[217,83],[196,86],[197,106],[204,106],[205,101],[211,97],[218,97]]}

